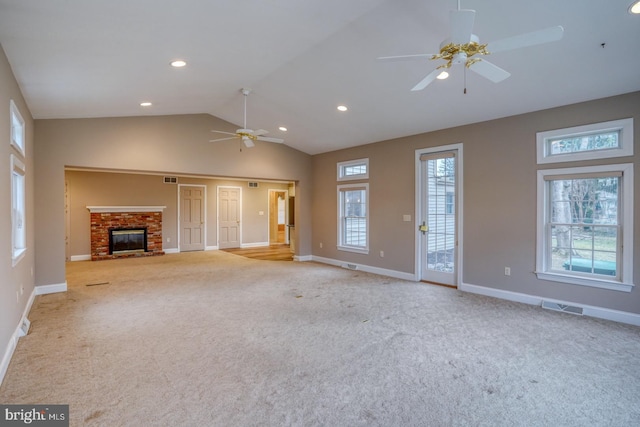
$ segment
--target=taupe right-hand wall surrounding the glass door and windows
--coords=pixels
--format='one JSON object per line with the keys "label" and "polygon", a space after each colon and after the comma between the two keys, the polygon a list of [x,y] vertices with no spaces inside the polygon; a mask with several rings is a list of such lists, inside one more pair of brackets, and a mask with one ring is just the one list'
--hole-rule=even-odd
{"label": "taupe right-hand wall surrounding the glass door and windows", "polygon": [[[640,313],[640,285],[630,294],[538,280],[536,241],[536,132],[633,117],[640,135],[640,92],[446,129],[313,157],[313,254],[414,273],[415,150],[462,143],[464,152],[463,282],[504,291]],[[633,162],[640,189],[640,148]],[[370,253],[336,249],[336,163],[369,158]],[[568,167],[575,164],[567,163]],[[549,166],[544,166],[548,168]],[[640,198],[634,204],[635,247],[640,247]],[[411,223],[402,222],[410,214]],[[320,248],[320,243],[323,248]],[[385,257],[380,258],[383,250]],[[634,254],[640,275],[640,250]],[[511,276],[504,267],[511,267]]]}

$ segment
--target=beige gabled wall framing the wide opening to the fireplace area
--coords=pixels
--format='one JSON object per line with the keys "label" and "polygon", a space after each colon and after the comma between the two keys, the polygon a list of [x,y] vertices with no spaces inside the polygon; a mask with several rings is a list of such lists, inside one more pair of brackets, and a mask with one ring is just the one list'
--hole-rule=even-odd
{"label": "beige gabled wall framing the wide opening to the fireplace area", "polygon": [[209,142],[211,129],[236,127],[207,114],[36,120],[36,284],[65,282],[66,167],[295,182],[296,253],[310,254],[311,157],[280,144]]}

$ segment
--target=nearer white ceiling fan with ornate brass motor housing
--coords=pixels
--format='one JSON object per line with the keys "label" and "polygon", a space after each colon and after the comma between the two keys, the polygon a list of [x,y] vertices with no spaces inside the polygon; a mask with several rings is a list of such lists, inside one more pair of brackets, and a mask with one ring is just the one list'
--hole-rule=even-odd
{"label": "nearer white ceiling fan with ornate brass motor housing", "polygon": [[[458,0],[458,10],[450,11],[449,16],[451,21],[451,35],[440,43],[439,53],[383,56],[378,58],[380,61],[410,61],[420,59],[443,59],[447,61],[427,74],[425,78],[420,80],[420,82],[411,89],[412,91],[424,89],[436,78],[440,77],[443,71],[458,64],[464,64],[466,68],[475,71],[494,83],[501,82],[511,74],[486,59],[480,58],[480,56],[560,40],[564,33],[564,29],[561,26],[557,26],[520,34],[491,43],[480,44],[478,36],[471,32],[476,16],[475,10],[461,10],[460,0]],[[440,78],[446,78],[446,76],[447,74]]]}

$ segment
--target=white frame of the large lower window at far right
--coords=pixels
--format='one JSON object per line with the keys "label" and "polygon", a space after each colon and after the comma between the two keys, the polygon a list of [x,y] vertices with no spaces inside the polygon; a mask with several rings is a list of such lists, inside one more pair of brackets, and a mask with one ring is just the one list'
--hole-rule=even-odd
{"label": "white frame of the large lower window at far right", "polygon": [[[550,257],[548,256],[549,239],[547,233],[547,222],[550,219],[551,209],[549,208],[549,185],[545,180],[546,176],[562,175],[588,175],[602,173],[622,173],[619,187],[620,205],[619,225],[621,230],[621,269],[619,279],[608,279],[606,277],[596,277],[576,275],[568,271],[566,274],[550,269]],[[562,178],[558,178],[562,179]],[[537,182],[537,237],[536,237],[536,275],[539,279],[551,280],[555,282],[570,283],[575,285],[592,286],[603,289],[630,292],[633,285],[633,164],[612,164],[598,166],[583,166],[563,169],[545,169],[538,171]]]}

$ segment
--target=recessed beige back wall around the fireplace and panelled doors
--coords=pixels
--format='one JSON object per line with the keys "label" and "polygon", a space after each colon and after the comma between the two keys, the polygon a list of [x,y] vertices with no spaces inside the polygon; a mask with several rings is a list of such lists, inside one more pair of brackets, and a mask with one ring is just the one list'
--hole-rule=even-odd
{"label": "recessed beige back wall around the fireplace and panelled doors", "polygon": [[[215,178],[177,177],[178,184],[165,184],[165,175],[68,170],[69,247],[67,258],[88,256],[91,251],[90,214],[87,206],[166,206],[162,214],[163,249],[178,248],[179,185],[206,187],[207,247],[217,246],[217,189],[240,187],[242,191],[242,244],[268,242],[268,190],[286,190],[287,183],[259,182],[248,188],[247,181]],[[263,215],[260,215],[260,211]],[[169,241],[167,241],[169,239]]]}

